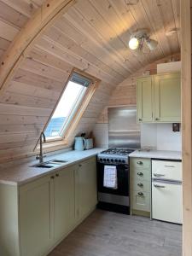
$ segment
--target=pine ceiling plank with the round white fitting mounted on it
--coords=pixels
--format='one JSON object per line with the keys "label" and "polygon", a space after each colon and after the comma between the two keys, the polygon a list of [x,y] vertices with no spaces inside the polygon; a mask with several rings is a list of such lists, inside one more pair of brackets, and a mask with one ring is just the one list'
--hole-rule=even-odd
{"label": "pine ceiling plank with the round white fitting mounted on it", "polygon": [[[172,0],[157,0],[157,5],[161,15],[163,26],[165,27],[165,32],[169,32],[177,26],[172,9]],[[177,53],[180,50],[177,33],[174,33],[172,36],[167,37],[167,39],[170,42],[172,53]]]}

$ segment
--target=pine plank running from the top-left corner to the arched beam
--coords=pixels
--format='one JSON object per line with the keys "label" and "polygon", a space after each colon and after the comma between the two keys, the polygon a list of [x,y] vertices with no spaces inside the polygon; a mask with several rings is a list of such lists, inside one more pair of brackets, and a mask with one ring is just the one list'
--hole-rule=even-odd
{"label": "pine plank running from the top-left corner to the arched beam", "polygon": [[33,4],[32,1],[30,3],[26,3],[24,0],[1,0],[3,3],[6,3],[12,9],[15,9],[22,15],[30,18],[32,14],[37,9],[37,5]]}

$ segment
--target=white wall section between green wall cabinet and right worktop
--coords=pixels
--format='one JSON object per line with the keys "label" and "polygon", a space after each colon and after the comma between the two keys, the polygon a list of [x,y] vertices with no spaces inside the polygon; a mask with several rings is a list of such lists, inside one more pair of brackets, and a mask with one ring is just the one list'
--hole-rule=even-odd
{"label": "white wall section between green wall cabinet and right worktop", "polygon": [[141,146],[157,150],[181,151],[181,131],[173,132],[172,124],[142,124]]}

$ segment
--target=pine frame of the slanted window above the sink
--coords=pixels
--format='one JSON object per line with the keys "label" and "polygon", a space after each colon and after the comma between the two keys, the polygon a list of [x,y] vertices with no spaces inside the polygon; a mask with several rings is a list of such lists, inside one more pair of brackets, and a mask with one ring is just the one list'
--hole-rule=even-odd
{"label": "pine frame of the slanted window above the sink", "polygon": [[[65,83],[63,90],[61,91],[61,96],[63,95],[64,91],[67,88],[67,84],[68,82],[71,80],[73,73],[78,73],[79,75],[90,79],[91,83],[90,85],[87,87],[87,90],[84,93],[84,96],[82,97],[82,99],[79,102],[79,105],[75,111],[75,113],[73,113],[72,118],[70,119],[70,116],[67,119],[69,120],[69,124],[67,124],[67,127],[64,127],[64,132],[62,134],[62,136],[58,136],[58,137],[49,137],[49,139],[46,140],[46,143],[44,143],[44,149],[45,151],[49,152],[51,151],[51,149],[53,148],[63,148],[63,146],[67,146],[68,143],[68,139],[69,137],[71,137],[71,135],[73,134],[73,131],[76,129],[77,125],[79,124],[79,121],[81,119],[81,117],[84,114],[84,111],[86,110],[86,108],[88,107],[90,100],[92,98],[92,96],[94,95],[94,93],[96,92],[96,89],[99,85],[99,83],[101,82],[100,79],[96,79],[95,77],[91,76],[89,73],[85,73],[77,68],[73,68],[72,72],[70,73],[67,82]],[[47,126],[49,125],[49,121],[52,118],[53,114],[55,113],[55,109],[57,108],[59,102],[61,101],[61,96],[58,98],[58,101],[56,102],[55,108],[53,109],[53,111],[51,112],[49,119],[47,121],[47,123],[44,125],[44,130],[46,130]],[[78,111],[79,110],[79,111]],[[39,145],[37,143],[36,147],[34,148],[34,150],[39,149]],[[49,150],[50,149],[50,150]]]}

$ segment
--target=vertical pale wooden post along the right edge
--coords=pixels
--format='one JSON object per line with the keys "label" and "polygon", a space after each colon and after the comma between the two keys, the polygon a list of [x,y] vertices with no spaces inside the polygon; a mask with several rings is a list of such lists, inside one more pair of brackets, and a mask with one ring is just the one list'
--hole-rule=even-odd
{"label": "vertical pale wooden post along the right edge", "polygon": [[183,256],[192,256],[192,2],[181,1],[182,141],[183,141]]}

